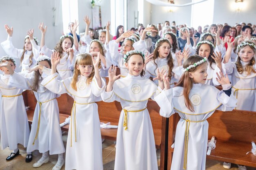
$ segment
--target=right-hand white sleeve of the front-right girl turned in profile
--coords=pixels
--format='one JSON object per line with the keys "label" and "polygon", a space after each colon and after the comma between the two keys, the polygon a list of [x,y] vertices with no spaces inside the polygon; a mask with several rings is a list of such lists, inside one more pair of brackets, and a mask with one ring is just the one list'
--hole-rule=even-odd
{"label": "right-hand white sleeve of the front-right girl turned in profile", "polygon": [[[228,90],[231,88],[231,84],[225,84],[222,85],[222,88],[225,90]],[[225,94],[225,92],[222,90],[218,93],[217,96],[218,100],[222,103],[220,107],[217,108],[217,110],[221,111],[231,111],[236,107],[237,99],[234,97],[233,93],[231,92],[231,95],[228,96]]]}

